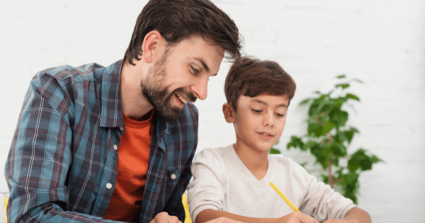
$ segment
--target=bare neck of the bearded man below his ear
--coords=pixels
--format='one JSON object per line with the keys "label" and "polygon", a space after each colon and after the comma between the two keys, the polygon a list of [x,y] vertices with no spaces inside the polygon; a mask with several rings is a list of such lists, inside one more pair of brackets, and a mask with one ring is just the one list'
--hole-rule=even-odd
{"label": "bare neck of the bearded man below his ear", "polygon": [[121,109],[132,120],[141,121],[154,107],[142,94],[140,81],[142,79],[142,64],[134,60],[135,66],[123,62],[120,80]]}

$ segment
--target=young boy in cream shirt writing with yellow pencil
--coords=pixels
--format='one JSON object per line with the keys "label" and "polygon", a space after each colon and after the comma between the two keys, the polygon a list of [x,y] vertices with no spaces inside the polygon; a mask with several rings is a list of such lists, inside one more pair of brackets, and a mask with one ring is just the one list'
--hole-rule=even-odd
{"label": "young boy in cream shirt writing with yellow pencil", "polygon": [[[188,185],[191,217],[203,223],[217,217],[242,222],[371,222],[367,212],[317,182],[290,158],[268,156],[285,127],[295,82],[276,63],[242,57],[225,81],[225,119],[236,143],[204,149],[192,166]],[[271,188],[273,182],[300,212]],[[310,217],[313,215],[315,218]]]}

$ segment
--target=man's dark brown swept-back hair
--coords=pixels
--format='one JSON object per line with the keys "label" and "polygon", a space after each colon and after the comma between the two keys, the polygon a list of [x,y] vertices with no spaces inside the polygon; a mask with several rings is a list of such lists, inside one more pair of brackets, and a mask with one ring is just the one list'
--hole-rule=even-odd
{"label": "man's dark brown swept-back hair", "polygon": [[[140,60],[145,35],[157,30],[168,44],[200,35],[210,45],[227,52],[227,59],[240,57],[241,40],[234,21],[209,0],[150,0],[137,18],[124,62]],[[223,55],[224,56],[224,55]]]}

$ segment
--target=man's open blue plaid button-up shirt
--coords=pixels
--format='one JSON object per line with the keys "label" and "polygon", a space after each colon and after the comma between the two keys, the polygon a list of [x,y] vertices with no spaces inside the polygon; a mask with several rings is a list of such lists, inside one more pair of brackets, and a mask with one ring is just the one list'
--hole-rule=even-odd
{"label": "man's open blue plaid button-up shirt", "polygon": [[[23,101],[6,161],[9,222],[115,222],[103,219],[117,178],[122,61],[62,66],[36,74]],[[181,196],[198,143],[198,110],[176,122],[154,115],[145,193],[137,222],[185,213]]]}

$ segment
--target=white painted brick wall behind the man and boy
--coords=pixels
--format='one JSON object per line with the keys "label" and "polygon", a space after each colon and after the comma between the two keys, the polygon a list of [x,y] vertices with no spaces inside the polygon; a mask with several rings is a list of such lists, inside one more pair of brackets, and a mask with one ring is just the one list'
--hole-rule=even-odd
{"label": "white painted brick wall behind the man and boy", "polygon": [[[47,67],[123,57],[146,1],[1,1],[0,175],[32,76]],[[244,35],[244,52],[276,60],[297,83],[280,140],[305,131],[312,91],[327,91],[334,76],[365,84],[350,125],[360,130],[351,151],[369,149],[385,164],[361,176],[359,207],[373,222],[425,222],[425,2],[215,0]],[[223,84],[229,63],[210,79],[208,99],[198,101],[198,151],[234,142],[222,118]],[[306,154],[286,151],[297,161]],[[3,178],[3,176],[0,176]],[[0,179],[0,190],[6,183]]]}

